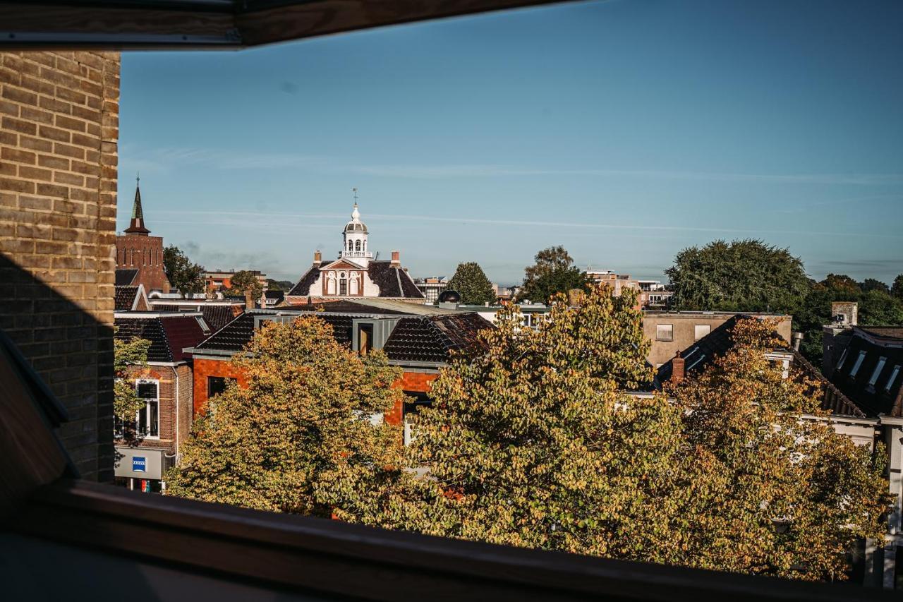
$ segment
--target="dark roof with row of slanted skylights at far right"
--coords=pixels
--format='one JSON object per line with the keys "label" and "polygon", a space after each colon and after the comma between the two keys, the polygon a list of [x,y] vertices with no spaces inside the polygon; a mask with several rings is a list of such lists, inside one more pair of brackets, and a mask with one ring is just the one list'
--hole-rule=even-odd
{"label": "dark roof with row of slanted skylights at far right", "polygon": [[[866,416],[875,417],[879,414],[890,416],[903,416],[903,347],[896,344],[872,343],[863,334],[871,334],[880,337],[893,336],[888,334],[903,328],[889,327],[863,327],[854,328],[849,343],[846,345],[846,357],[840,369],[835,369],[831,375],[831,382],[844,395],[850,398]],[[860,332],[861,331],[861,332]],[[836,339],[835,339],[836,342]],[[836,350],[833,356],[834,365],[840,361],[841,349]],[[857,359],[864,353],[859,370],[851,376]],[[870,385],[871,377],[884,358],[884,364],[878,372],[875,383]],[[899,366],[896,376],[894,371]],[[893,381],[890,381],[894,376]],[[890,385],[888,388],[888,384]]]}

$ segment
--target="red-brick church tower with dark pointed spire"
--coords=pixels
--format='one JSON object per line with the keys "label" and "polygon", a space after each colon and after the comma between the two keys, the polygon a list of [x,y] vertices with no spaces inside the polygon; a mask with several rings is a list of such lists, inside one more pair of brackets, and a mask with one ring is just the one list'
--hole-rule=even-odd
{"label": "red-brick church tower with dark pointed spire", "polygon": [[125,234],[116,237],[116,284],[143,284],[148,292],[168,293],[170,283],[163,272],[163,237],[149,236],[150,233],[144,226],[141,188],[135,183],[132,221]]}

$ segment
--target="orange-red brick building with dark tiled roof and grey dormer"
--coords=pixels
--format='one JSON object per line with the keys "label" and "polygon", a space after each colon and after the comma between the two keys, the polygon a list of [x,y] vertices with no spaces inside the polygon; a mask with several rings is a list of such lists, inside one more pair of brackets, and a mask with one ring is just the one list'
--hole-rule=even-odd
{"label": "orange-red brick building with dark tiled roof and grey dormer", "polygon": [[402,301],[340,301],[295,308],[255,310],[238,316],[218,333],[191,349],[193,359],[194,413],[202,412],[207,400],[224,390],[228,381],[245,384],[244,375],[230,360],[251,340],[265,321],[289,321],[317,310],[317,316],[332,326],[335,338],[356,352],[382,349],[390,364],[404,371],[393,386],[414,400],[399,404],[385,419],[401,424],[405,414],[429,402],[430,383],[446,365],[453,350],[476,343],[476,334],[492,325],[473,312],[433,306],[413,306]]}

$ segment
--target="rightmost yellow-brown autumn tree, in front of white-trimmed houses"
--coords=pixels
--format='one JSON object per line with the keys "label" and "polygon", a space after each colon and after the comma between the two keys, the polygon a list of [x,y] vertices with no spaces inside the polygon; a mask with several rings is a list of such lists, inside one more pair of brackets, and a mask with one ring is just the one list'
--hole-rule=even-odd
{"label": "rightmost yellow-brown autumn tree, in front of white-trimmed houses", "polygon": [[[678,531],[678,564],[787,578],[839,579],[858,538],[880,537],[883,466],[834,431],[821,388],[784,378],[766,353],[775,325],[745,319],[699,378],[670,387],[684,451],[706,475]],[[880,458],[881,454],[875,455]]]}

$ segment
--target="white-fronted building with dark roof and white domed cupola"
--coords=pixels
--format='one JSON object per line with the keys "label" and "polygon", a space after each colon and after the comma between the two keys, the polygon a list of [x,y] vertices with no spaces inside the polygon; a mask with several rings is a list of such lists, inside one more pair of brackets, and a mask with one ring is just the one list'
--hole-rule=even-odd
{"label": "white-fronted building with dark roof and white domed cupola", "polygon": [[401,267],[398,251],[391,261],[374,259],[368,249],[367,224],[360,221],[358,203],[354,203],[351,221],[342,230],[339,259],[323,261],[321,252],[313,254],[313,265],[285,296],[292,305],[354,299],[397,299],[423,303],[424,293]]}

